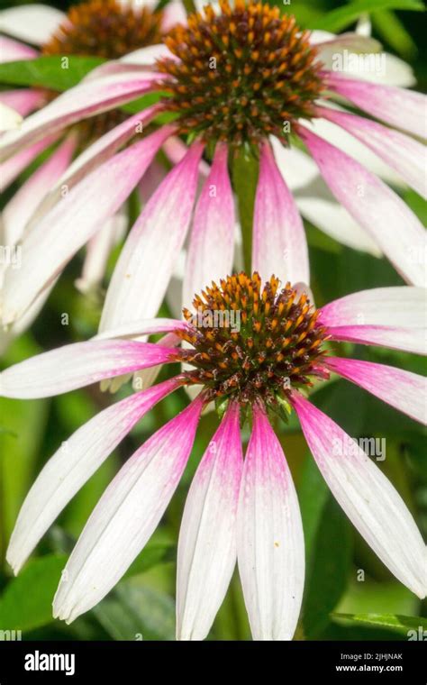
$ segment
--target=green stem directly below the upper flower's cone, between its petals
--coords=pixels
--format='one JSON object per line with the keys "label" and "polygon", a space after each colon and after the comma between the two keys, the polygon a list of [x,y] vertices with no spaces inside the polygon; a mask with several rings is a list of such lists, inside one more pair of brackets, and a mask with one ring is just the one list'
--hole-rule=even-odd
{"label": "green stem directly below the upper flower's cone, between its petals", "polygon": [[232,183],[239,206],[243,266],[247,274],[252,272],[252,225],[258,175],[259,160],[250,148],[241,147],[232,160]]}

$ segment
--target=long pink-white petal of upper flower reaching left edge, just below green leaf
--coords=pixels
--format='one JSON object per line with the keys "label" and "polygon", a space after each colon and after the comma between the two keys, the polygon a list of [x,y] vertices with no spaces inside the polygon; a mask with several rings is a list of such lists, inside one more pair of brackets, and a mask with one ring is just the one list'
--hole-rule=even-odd
{"label": "long pink-white petal of upper flower reaching left edge, just below green leaf", "polygon": [[36,142],[46,133],[54,133],[94,114],[123,105],[149,91],[159,75],[153,72],[118,74],[84,81],[56,97],[50,105],[32,114],[19,132],[8,132],[0,140],[0,156],[5,160]]}

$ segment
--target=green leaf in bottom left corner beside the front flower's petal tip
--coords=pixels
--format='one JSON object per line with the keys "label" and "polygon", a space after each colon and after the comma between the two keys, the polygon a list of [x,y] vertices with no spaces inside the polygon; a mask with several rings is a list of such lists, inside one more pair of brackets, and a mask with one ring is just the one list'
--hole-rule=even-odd
{"label": "green leaf in bottom left corner beside the front flower's petal tip", "polygon": [[33,559],[17,578],[11,580],[0,597],[2,630],[30,631],[54,619],[52,600],[67,557],[48,554]]}

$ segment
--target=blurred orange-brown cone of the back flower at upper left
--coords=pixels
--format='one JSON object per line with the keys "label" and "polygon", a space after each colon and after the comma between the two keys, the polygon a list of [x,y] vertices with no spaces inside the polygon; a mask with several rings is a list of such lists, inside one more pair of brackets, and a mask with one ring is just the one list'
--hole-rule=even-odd
{"label": "blurred orange-brown cone of the back flower at upper left", "polygon": [[[125,5],[118,0],[88,0],[70,7],[67,20],[42,46],[41,52],[119,59],[132,50],[159,43],[161,19],[161,13],[153,13],[146,7]],[[48,99],[56,95],[50,93]],[[118,109],[97,114],[78,124],[80,138],[91,142],[126,118],[127,114]]]}

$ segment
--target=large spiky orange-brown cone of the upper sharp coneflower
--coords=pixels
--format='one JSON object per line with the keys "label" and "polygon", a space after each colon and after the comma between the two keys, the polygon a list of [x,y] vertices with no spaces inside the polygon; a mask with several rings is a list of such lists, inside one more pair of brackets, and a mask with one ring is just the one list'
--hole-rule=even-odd
{"label": "large spiky orange-brown cone of the upper sharp coneflower", "polygon": [[207,5],[168,33],[179,61],[158,63],[171,77],[165,105],[179,113],[181,132],[206,142],[256,144],[270,133],[287,139],[296,120],[313,116],[322,90],[307,33],[277,7],[245,0],[220,6],[220,14]]}

